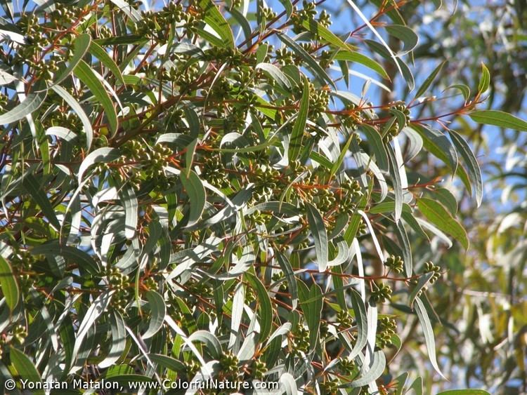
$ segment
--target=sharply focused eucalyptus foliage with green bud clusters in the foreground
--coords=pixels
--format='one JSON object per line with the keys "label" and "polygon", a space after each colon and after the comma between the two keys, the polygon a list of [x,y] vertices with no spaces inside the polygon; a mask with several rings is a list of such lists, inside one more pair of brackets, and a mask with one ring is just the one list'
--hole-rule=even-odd
{"label": "sharply focused eucalyptus foliage with green bud clusters in the foreground", "polygon": [[[2,380],[420,393],[408,328],[442,375],[427,293],[469,238],[441,178],[483,194],[446,121],[527,123],[475,109],[485,66],[436,105],[443,63],[415,87],[417,35],[372,3],[346,34],[306,1],[4,4]],[[415,93],[372,102],[390,70]],[[406,171],[432,156],[449,175]]]}

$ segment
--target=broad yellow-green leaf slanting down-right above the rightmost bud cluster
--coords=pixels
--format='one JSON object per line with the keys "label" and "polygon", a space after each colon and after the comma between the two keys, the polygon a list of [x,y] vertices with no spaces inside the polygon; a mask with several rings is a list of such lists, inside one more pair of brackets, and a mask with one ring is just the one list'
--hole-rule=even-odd
{"label": "broad yellow-green leaf slanting down-right above the rightmost bud cluster", "polygon": [[436,225],[438,229],[453,236],[465,250],[469,248],[467,232],[441,203],[432,199],[421,198],[417,200],[417,207],[427,217],[427,220]]}

